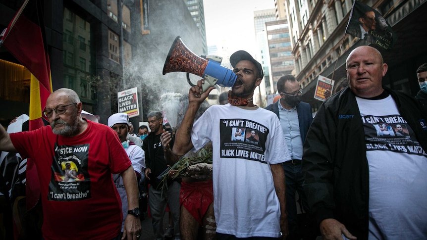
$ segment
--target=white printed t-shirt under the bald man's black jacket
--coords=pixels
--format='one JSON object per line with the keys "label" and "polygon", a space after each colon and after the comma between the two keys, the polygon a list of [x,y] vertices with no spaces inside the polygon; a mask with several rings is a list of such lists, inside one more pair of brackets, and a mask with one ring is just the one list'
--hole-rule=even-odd
{"label": "white printed t-shirt under the bald man's black jacket", "polygon": [[369,239],[426,239],[427,153],[391,96],[356,100],[369,164]]}

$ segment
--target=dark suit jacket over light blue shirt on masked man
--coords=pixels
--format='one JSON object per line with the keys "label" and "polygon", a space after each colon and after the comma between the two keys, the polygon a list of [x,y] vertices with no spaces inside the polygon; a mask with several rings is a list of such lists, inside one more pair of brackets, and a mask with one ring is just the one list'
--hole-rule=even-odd
{"label": "dark suit jacket over light blue shirt on masked man", "polygon": [[[270,104],[266,107],[267,110],[270,110],[274,112],[277,117],[280,119],[279,116],[279,104],[280,101],[277,101],[273,104]],[[309,131],[310,125],[313,121],[313,114],[312,114],[312,108],[310,107],[310,104],[307,102],[300,102],[297,105],[297,113],[298,113],[298,122],[300,124],[300,133],[301,133],[301,140],[306,140],[307,132]]]}

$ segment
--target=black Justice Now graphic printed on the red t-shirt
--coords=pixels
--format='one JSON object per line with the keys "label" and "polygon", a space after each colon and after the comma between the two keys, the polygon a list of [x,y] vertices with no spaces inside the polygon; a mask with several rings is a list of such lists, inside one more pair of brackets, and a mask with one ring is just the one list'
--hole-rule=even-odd
{"label": "black Justice Now graphic printed on the red t-shirt", "polygon": [[90,198],[89,144],[58,146],[55,143],[54,151],[48,199],[77,201]]}

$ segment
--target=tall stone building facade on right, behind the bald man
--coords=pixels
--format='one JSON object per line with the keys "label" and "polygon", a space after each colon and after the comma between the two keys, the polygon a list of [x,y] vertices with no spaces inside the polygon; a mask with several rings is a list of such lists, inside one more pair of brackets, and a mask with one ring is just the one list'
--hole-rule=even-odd
{"label": "tall stone building facade on right, behind the bald man", "polygon": [[[383,84],[415,96],[419,91],[416,69],[427,62],[426,0],[363,0],[377,10],[397,34],[389,50],[379,49],[388,64]],[[289,16],[295,76],[304,88],[302,100],[316,111],[321,101],[314,91],[319,75],[339,80],[345,77],[345,59],[351,50],[369,45],[345,34],[352,0],[274,0],[277,14]],[[421,35],[421,36],[420,36]]]}

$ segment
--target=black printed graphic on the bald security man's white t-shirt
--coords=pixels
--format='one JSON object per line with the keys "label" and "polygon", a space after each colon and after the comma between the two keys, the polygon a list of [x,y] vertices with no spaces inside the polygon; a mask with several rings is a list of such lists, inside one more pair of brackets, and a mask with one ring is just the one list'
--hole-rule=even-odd
{"label": "black printed graphic on the bald security man's white t-shirt", "polygon": [[366,150],[388,150],[427,156],[412,128],[400,115],[362,117]]}

